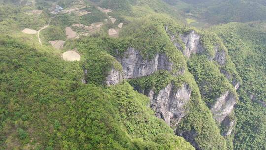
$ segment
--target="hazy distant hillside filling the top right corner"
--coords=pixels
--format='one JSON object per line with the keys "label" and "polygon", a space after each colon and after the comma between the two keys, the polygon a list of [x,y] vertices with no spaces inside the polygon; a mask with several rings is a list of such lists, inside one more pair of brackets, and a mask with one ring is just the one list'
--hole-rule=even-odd
{"label": "hazy distant hillside filling the top right corner", "polygon": [[[192,18],[196,27],[229,22],[265,21],[265,0],[164,0]],[[198,22],[198,23],[197,23]]]}

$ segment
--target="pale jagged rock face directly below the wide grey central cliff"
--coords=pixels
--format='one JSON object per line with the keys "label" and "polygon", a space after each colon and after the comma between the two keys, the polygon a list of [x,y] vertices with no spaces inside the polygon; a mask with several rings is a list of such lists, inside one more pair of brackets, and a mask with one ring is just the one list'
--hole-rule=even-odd
{"label": "pale jagged rock face directly below the wide grey central cliff", "polygon": [[186,114],[185,105],[190,95],[191,89],[187,84],[177,88],[173,83],[169,83],[158,94],[151,91],[147,96],[151,99],[151,108],[156,112],[156,116],[175,127]]}

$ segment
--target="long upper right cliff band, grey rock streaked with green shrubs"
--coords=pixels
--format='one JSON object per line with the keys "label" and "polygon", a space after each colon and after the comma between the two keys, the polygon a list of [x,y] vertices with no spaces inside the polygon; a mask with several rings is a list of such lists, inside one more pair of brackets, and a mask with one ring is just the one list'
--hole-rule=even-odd
{"label": "long upper right cliff band, grey rock streaked with green shrubs", "polygon": [[[165,30],[166,32],[168,32],[167,27],[165,28]],[[217,39],[215,39],[216,41],[215,40],[212,41],[208,37],[210,35],[205,36],[203,34],[204,39],[202,40],[202,36],[194,30],[191,30],[189,33],[185,34],[168,33],[168,35],[173,44],[176,46],[176,48],[181,50],[183,55],[188,58],[192,54],[206,54],[209,60],[216,61],[218,65],[220,65],[221,67],[228,66],[229,63],[231,63],[231,61],[229,61],[228,58],[229,56],[227,54],[226,48],[223,46],[218,37],[213,37],[214,39],[215,38]],[[207,46],[207,44],[209,45]],[[212,48],[210,49],[210,47]],[[221,73],[226,75],[227,79],[232,80],[233,86],[235,86],[235,88],[238,89],[240,85],[240,80],[236,79],[234,75],[232,75],[232,73],[229,73],[227,70],[223,68],[221,68],[220,71]]]}

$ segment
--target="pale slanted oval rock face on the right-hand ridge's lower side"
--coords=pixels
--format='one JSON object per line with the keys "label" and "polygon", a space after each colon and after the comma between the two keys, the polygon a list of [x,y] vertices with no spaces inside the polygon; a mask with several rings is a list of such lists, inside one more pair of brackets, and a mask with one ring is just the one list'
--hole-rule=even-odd
{"label": "pale slanted oval rock face on the right-hand ridge's lower side", "polygon": [[219,97],[216,103],[212,106],[211,112],[213,118],[221,123],[227,115],[229,115],[233,106],[236,104],[235,96],[229,91],[225,92],[221,97]]}

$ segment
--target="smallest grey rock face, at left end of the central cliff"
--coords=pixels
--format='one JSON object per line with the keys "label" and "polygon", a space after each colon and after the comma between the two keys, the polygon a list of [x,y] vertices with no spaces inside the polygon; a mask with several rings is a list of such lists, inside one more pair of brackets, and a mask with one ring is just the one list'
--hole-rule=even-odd
{"label": "smallest grey rock face, at left end of the central cliff", "polygon": [[122,80],[122,73],[121,71],[116,70],[114,67],[112,67],[112,70],[109,71],[108,76],[106,78],[106,85],[116,85],[120,83]]}

